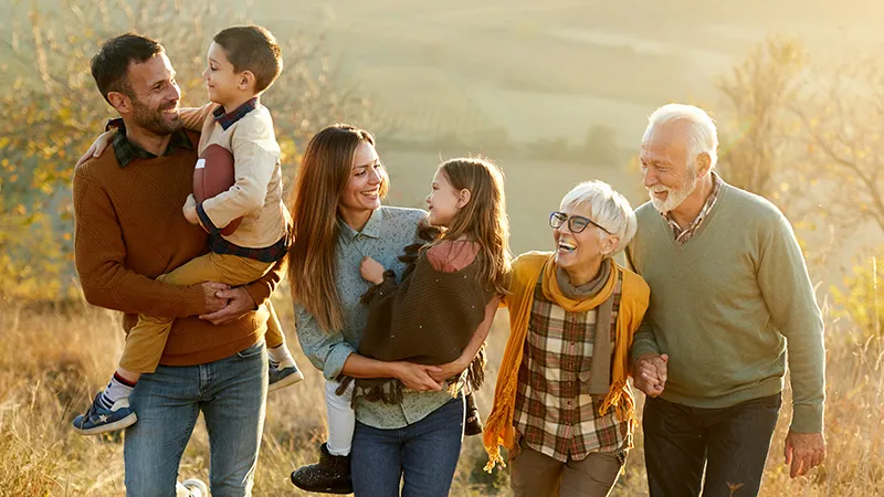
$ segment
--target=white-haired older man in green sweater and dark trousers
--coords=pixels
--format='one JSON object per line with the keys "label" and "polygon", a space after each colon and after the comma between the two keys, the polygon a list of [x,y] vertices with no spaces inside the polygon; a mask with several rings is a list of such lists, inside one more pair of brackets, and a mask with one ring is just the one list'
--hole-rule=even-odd
{"label": "white-haired older man in green sweater and dark trousers", "polygon": [[652,497],[699,495],[704,467],[704,497],[757,495],[787,350],[790,476],[825,457],[823,325],[801,250],[774,204],[714,171],[716,134],[671,104],[642,139],[651,201],[627,256],[651,287],[632,358]]}

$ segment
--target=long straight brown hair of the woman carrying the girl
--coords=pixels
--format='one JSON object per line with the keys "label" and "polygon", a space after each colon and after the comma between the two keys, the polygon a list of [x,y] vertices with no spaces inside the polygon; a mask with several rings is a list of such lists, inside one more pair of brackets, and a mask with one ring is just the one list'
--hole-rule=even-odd
{"label": "long straight brown hair of the woman carrying the girl", "polygon": [[[292,193],[293,242],[288,250],[292,299],[303,305],[325,331],[344,327],[336,284],[338,200],[350,179],[356,148],[362,141],[373,146],[375,137],[345,124],[328,126],[314,135],[304,150]],[[382,176],[381,197],[390,186],[386,171]]]}

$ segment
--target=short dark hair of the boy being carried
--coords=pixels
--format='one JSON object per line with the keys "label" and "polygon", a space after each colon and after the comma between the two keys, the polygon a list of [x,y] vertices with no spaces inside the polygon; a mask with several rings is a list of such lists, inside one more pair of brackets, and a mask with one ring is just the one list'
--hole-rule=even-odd
{"label": "short dark hair of the boy being carried", "polygon": [[233,71],[251,71],[255,75],[255,91],[261,93],[276,81],[283,71],[283,53],[276,39],[260,25],[235,25],[214,35],[214,42],[224,49]]}

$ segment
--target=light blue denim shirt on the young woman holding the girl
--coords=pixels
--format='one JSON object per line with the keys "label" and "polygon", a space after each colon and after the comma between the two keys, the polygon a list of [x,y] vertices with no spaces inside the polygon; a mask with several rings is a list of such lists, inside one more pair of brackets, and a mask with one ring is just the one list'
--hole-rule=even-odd
{"label": "light blue denim shirt on the young woman holding the girl", "polygon": [[[418,241],[418,224],[427,212],[418,209],[381,207],[376,210],[362,231],[357,232],[340,223],[337,243],[337,289],[344,307],[345,326],[339,330],[325,331],[303,306],[295,304],[297,337],[304,355],[323,371],[327,379],[336,379],[350,353],[357,352],[362,330],[368,320],[368,307],[359,299],[371,286],[359,274],[364,256],[370,256],[383,267],[401,275],[406,268],[399,261],[402,248]],[[406,390],[402,402],[388,405],[357,399],[356,417],[369,426],[392,430],[415,423],[451,400],[451,394],[441,392],[414,392]]]}

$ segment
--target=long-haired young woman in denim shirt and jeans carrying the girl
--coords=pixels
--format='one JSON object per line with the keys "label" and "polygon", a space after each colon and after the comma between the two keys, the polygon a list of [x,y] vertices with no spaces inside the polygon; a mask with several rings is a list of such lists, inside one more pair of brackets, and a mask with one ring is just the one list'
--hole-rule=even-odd
{"label": "long-haired young woman in denim shirt and jeans carrying the girl", "polygon": [[[466,368],[456,371],[462,361],[427,366],[358,353],[369,320],[369,307],[360,299],[372,288],[360,266],[370,257],[398,283],[407,268],[399,256],[406,246],[422,242],[419,229],[428,216],[418,209],[381,205],[388,190],[370,133],[334,125],[311,139],[292,205],[290,279],[298,340],[326,378],[329,437],[320,446],[319,464],[292,474],[304,489],[399,495],[404,477],[402,495],[442,496],[457,464],[464,401],[443,383]],[[352,384],[341,388],[343,376],[394,379],[403,388],[392,403],[357,396],[354,422],[354,411],[340,399],[351,394]]]}

